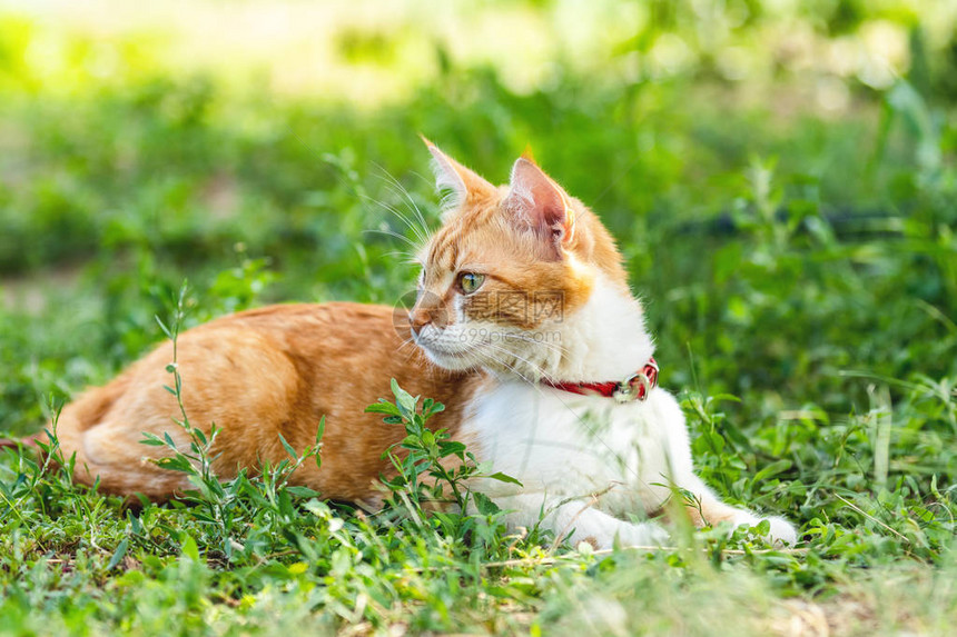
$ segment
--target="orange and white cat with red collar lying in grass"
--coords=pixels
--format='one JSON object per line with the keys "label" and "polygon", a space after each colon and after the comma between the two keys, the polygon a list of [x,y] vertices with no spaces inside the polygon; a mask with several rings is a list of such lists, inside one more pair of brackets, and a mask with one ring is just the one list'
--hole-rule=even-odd
{"label": "orange and white cat with red collar lying in grass", "polygon": [[[699,526],[762,519],[723,504],[694,474],[684,417],[655,386],[642,308],[599,219],[531,159],[496,187],[427,146],[451,197],[421,252],[404,334],[393,308],[334,302],[245,311],[179,337],[189,420],[221,428],[217,474],[286,458],[279,434],[305,449],[325,417],[322,468],[304,464],[293,482],[376,506],[389,470],[383,451],[404,431],[363,410],[389,396],[395,378],[446,405],[431,426],[521,482],[471,485],[515,527],[541,518],[573,543],[662,544],[663,528],[641,518],[674,486],[698,500],[688,512]],[[161,450],[139,444],[149,431],[188,445],[164,389],[171,360],[164,344],[62,410],[58,436],[65,455],[76,454],[78,480],[158,499],[189,488],[149,461]],[[767,519],[771,538],[796,541],[788,521]]]}

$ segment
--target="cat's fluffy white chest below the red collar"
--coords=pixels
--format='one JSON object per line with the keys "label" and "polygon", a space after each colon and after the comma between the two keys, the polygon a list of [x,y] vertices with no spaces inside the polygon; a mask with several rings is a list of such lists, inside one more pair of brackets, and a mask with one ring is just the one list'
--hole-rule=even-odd
{"label": "cat's fluffy white chest below the red collar", "polygon": [[[619,404],[514,381],[476,397],[465,430],[480,442],[480,460],[523,485],[484,481],[492,497],[600,495],[612,514],[658,508],[669,477],[690,458],[684,419],[674,399],[654,390],[645,401]],[[674,457],[674,450],[681,457]]]}

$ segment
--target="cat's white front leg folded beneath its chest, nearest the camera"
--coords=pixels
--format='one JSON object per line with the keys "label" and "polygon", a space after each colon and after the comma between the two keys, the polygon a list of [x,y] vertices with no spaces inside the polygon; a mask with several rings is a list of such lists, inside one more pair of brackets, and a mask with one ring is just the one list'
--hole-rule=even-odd
{"label": "cat's white front leg folded beneath its chest, nearest the camera", "polygon": [[568,500],[543,494],[499,497],[495,502],[507,511],[510,527],[531,528],[541,520],[556,538],[578,545],[588,541],[595,548],[622,546],[655,547],[668,543],[668,533],[654,522],[630,522],[600,511],[589,498]]}

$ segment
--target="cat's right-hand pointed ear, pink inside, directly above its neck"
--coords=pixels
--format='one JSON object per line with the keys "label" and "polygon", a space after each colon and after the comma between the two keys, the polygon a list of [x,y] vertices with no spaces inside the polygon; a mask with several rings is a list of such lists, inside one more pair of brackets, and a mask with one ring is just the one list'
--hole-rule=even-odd
{"label": "cat's right-hand pointed ear, pink inside, directly above its neck", "polygon": [[531,225],[555,248],[569,248],[574,239],[575,213],[571,199],[527,152],[512,167],[511,188],[502,207]]}

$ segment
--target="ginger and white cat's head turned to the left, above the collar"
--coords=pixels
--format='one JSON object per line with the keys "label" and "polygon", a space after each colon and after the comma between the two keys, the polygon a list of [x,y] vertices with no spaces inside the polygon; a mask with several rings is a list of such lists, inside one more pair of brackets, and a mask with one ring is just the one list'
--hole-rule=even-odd
{"label": "ginger and white cat's head turned to the left, above the collar", "polygon": [[554,378],[581,349],[574,319],[596,287],[631,298],[613,239],[531,157],[496,187],[426,145],[447,198],[420,253],[415,342],[446,369]]}

